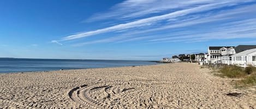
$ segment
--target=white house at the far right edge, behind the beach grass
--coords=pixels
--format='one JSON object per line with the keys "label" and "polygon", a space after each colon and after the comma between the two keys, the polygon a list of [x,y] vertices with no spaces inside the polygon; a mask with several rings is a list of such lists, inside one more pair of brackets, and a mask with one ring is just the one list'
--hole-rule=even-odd
{"label": "white house at the far right edge, behind the beach grass", "polygon": [[231,56],[232,65],[253,65],[256,66],[256,48],[248,49]]}

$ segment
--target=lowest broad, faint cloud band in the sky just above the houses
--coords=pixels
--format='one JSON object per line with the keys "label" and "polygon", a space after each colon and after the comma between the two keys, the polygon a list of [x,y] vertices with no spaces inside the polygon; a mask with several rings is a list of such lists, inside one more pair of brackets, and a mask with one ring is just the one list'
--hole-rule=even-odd
{"label": "lowest broad, faint cloud band in the sky just above the houses", "polygon": [[[200,33],[199,31],[194,31],[194,33],[190,33],[190,35],[173,35],[172,37],[164,37],[148,40],[149,43],[166,43],[166,42],[202,42],[209,40],[227,40],[227,39],[245,39],[245,38],[253,38],[255,39],[256,33],[256,18],[250,20],[242,20],[230,22],[229,24],[233,24],[232,26],[228,25],[227,27],[222,27],[226,25],[225,23],[222,25],[218,25],[217,27],[213,27],[211,31],[205,31],[204,33]],[[241,26],[243,25],[243,26]],[[254,31],[252,31],[254,30]],[[247,31],[247,32],[245,32]]]}

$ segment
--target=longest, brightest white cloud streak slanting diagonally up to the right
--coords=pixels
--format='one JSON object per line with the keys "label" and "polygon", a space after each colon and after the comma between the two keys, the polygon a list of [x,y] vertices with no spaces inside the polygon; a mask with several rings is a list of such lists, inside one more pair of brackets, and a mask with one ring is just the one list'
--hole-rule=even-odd
{"label": "longest, brightest white cloud streak slanting diagonally up to the right", "polygon": [[180,11],[175,11],[175,12],[171,12],[171,13],[165,14],[165,15],[144,18],[144,19],[141,19],[141,20],[138,20],[138,21],[124,23],[124,24],[118,24],[118,25],[114,25],[114,26],[108,27],[108,28],[103,28],[103,29],[98,29],[98,30],[94,30],[94,31],[87,31],[87,32],[80,33],[80,34],[70,35],[70,36],[67,36],[67,37],[63,37],[59,41],[81,39],[81,38],[87,37],[87,36],[92,36],[92,35],[102,34],[102,33],[108,33],[108,32],[111,32],[111,31],[135,28],[135,27],[136,28],[145,27],[145,26],[148,26],[148,25],[150,25],[154,22],[168,20],[170,18],[176,18],[176,17],[180,17],[180,16],[184,16],[184,15],[188,15],[188,14],[193,14],[193,13],[197,13],[197,12],[203,12],[203,11],[207,11],[207,10],[218,9],[218,8],[225,7],[227,5],[234,5],[237,2],[238,1],[235,1],[235,2],[220,2],[220,3],[214,3],[214,4],[201,5],[199,7],[180,10]]}

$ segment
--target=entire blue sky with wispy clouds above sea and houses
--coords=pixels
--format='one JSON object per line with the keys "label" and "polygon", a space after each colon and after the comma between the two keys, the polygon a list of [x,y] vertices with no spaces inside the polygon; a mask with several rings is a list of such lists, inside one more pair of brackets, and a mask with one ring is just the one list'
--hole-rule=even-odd
{"label": "entire blue sky with wispy clouds above sea and houses", "polygon": [[0,1],[0,57],[160,60],[256,43],[255,0]]}

